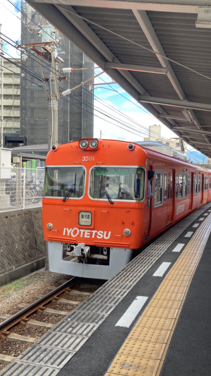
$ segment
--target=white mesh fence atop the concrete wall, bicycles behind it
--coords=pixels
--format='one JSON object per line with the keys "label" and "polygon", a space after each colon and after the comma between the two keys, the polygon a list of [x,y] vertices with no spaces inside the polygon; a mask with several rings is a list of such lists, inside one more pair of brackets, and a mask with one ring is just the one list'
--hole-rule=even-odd
{"label": "white mesh fence atop the concrete wall, bicycles behind it", "polygon": [[0,212],[41,206],[44,171],[0,167]]}

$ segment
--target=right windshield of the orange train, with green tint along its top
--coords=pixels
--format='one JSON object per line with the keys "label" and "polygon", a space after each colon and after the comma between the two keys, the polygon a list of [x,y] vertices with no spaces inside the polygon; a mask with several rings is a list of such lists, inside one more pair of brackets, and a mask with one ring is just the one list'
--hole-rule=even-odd
{"label": "right windshield of the orange train, with green tint along its top", "polygon": [[90,196],[112,200],[142,200],[145,171],[136,167],[94,167],[91,170]]}

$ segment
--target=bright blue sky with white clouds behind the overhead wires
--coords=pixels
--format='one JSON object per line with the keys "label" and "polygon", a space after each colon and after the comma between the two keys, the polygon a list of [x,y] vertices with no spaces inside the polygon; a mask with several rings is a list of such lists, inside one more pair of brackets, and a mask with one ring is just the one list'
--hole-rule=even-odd
{"label": "bright blue sky with white clouds behind the overhead wires", "polygon": [[[0,23],[1,33],[12,39],[10,42],[13,45],[13,41],[21,41],[21,14],[15,8],[16,6],[21,9],[21,1],[11,0],[15,6],[9,1],[0,0]],[[7,58],[20,57],[19,51],[5,42],[4,54]],[[99,68],[96,68],[95,74],[99,72]],[[144,137],[148,137],[149,126],[154,124],[161,126],[161,137],[165,141],[177,137],[117,83],[112,83],[112,79],[106,73],[97,77],[94,83],[94,137],[142,141]],[[192,149],[189,146],[187,148]]]}

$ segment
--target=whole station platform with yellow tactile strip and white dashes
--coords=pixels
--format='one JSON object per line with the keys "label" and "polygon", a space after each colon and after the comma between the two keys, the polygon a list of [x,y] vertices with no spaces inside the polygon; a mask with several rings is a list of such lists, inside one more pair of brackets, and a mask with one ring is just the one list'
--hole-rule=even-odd
{"label": "whole station platform with yellow tactile strip and white dashes", "polygon": [[157,238],[0,375],[210,375],[210,214]]}

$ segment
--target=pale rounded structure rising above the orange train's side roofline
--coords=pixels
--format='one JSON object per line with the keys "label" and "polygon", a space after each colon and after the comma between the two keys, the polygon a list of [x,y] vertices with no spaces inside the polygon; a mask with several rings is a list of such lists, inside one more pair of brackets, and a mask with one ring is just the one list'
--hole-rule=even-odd
{"label": "pale rounded structure rising above the orange train's side roofline", "polygon": [[133,144],[141,145],[142,147],[145,147],[146,149],[154,150],[155,152],[159,152],[165,155],[168,155],[169,157],[174,157],[178,159],[182,159],[183,161],[187,161],[186,155],[184,155],[181,152],[178,152],[178,150],[174,150],[171,147],[157,141],[134,141]]}

